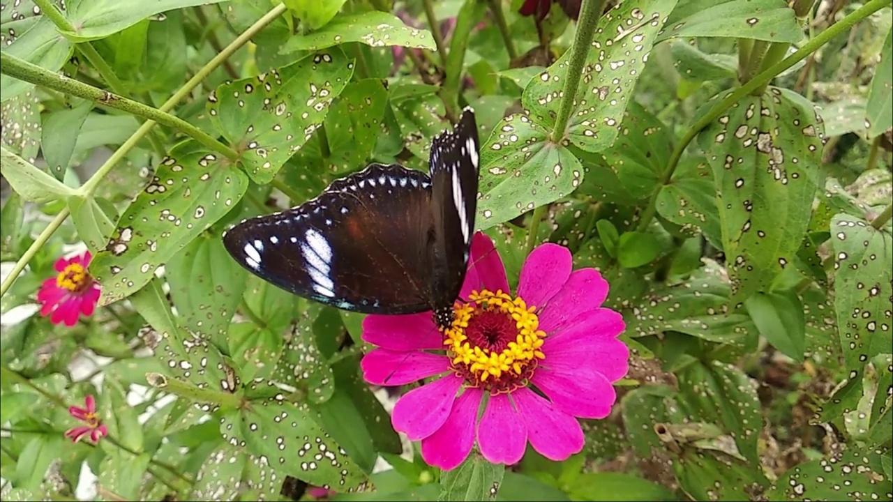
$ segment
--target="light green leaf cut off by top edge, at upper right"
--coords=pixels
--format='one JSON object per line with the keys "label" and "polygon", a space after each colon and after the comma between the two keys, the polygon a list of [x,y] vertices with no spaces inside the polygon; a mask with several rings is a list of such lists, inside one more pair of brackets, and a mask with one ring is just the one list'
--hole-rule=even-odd
{"label": "light green leaf cut off by top edge, at upper right", "polygon": [[702,2],[703,8],[680,21],[671,21],[658,41],[674,37],[753,38],[796,44],[803,28],[785,0],[726,0]]}

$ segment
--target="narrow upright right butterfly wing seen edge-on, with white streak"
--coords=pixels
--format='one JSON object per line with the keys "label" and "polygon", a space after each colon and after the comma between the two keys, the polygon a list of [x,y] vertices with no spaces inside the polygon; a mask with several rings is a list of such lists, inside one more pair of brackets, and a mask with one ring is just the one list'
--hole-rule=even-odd
{"label": "narrow upright right butterfly wing seen edge-on, with white streak", "polygon": [[435,308],[452,306],[465,279],[478,205],[479,148],[478,124],[471,108],[465,108],[454,130],[431,143]]}

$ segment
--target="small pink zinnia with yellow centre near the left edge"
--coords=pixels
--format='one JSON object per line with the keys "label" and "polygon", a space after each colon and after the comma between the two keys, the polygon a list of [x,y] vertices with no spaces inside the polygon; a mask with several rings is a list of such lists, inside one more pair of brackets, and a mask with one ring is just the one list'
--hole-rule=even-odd
{"label": "small pink zinnia with yellow centre near the left edge", "polygon": [[45,280],[38,291],[38,302],[43,304],[40,315],[53,313],[50,322],[64,322],[66,326],[78,322],[80,314],[93,315],[99,301],[99,284],[87,272],[90,258],[90,252],[86,251],[83,255],[56,261],[55,270],[59,274]]}

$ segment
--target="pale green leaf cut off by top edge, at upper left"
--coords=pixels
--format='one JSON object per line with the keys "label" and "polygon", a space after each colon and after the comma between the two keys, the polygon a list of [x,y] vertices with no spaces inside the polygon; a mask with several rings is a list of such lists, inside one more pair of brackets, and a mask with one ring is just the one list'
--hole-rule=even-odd
{"label": "pale green leaf cut off by top edge, at upper left", "polygon": [[221,1],[69,0],[65,3],[65,17],[75,29],[63,33],[76,42],[106,38],[158,13],[202,4],[217,4]]}

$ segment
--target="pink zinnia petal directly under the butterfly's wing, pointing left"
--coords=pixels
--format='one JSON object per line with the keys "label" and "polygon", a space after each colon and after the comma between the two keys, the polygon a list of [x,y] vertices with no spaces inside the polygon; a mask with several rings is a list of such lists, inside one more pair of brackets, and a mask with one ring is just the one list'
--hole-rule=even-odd
{"label": "pink zinnia petal directly under the butterfly's wing, pointing left", "polygon": [[363,340],[392,350],[443,348],[443,334],[434,325],[430,312],[405,315],[367,315],[363,319]]}

